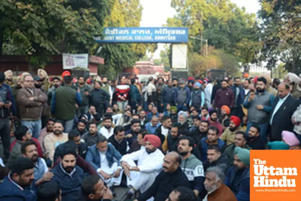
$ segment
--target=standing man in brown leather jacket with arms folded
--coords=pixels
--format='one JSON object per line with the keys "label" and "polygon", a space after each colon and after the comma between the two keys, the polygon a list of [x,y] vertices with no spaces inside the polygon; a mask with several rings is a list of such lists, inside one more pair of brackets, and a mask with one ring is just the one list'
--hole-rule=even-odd
{"label": "standing man in brown leather jacket with arms folded", "polygon": [[24,87],[18,90],[21,121],[34,138],[39,138],[42,129],[42,105],[47,102],[47,96],[41,89],[34,87],[34,79],[31,75],[24,76],[23,84]]}

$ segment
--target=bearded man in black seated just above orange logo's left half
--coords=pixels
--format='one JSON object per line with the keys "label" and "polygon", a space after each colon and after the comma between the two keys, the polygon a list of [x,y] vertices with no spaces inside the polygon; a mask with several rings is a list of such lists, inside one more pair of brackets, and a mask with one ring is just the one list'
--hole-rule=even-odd
{"label": "bearded man in black seated just above orange logo's left half", "polygon": [[263,144],[260,137],[260,127],[257,125],[252,125],[249,129],[247,145],[249,145],[254,150],[264,150],[265,145]]}

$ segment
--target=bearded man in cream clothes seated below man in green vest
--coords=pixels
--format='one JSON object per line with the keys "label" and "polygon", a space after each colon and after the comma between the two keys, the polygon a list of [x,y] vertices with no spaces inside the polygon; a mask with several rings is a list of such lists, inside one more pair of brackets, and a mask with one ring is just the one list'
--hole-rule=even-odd
{"label": "bearded man in cream clothes seated below man in green vest", "polygon": [[62,123],[56,122],[53,125],[53,133],[45,137],[44,146],[46,152],[49,154],[50,160],[53,160],[54,152],[57,146],[68,141],[68,134],[63,133],[64,127]]}

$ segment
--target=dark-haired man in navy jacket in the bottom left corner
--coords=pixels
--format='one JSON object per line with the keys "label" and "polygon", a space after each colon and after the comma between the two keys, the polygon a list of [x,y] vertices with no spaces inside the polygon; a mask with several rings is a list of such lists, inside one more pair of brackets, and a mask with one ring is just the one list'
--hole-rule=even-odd
{"label": "dark-haired man in navy jacket in the bottom left corner", "polygon": [[34,182],[34,167],[32,160],[24,157],[17,158],[12,171],[0,185],[0,200],[36,201],[36,193],[30,188]]}

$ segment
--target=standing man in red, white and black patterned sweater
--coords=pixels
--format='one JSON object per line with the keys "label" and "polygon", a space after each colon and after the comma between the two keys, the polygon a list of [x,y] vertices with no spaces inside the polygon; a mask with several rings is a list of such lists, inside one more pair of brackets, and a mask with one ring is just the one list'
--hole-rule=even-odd
{"label": "standing man in red, white and black patterned sweater", "polygon": [[125,76],[122,76],[120,79],[120,84],[115,88],[117,95],[117,105],[120,111],[124,111],[125,107],[128,105],[128,96],[129,96],[129,85],[126,83]]}

